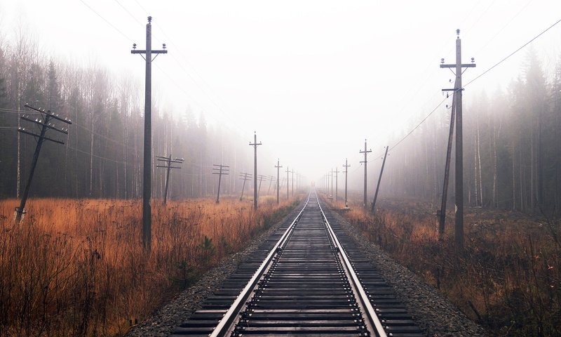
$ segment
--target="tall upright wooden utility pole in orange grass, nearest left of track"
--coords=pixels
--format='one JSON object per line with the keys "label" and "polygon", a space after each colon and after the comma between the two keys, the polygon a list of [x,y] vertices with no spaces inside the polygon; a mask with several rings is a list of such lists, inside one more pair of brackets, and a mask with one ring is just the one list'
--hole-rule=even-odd
{"label": "tall upright wooden utility pole in orange grass, nearest left of track", "polygon": [[142,245],[144,250],[149,252],[151,249],[151,147],[152,147],[152,117],[151,117],[151,107],[152,107],[152,54],[165,54],[168,51],[165,50],[165,44],[163,44],[161,51],[152,50],[152,17],[148,17],[148,23],[146,24],[146,50],[137,51],[136,44],[133,44],[133,50],[130,51],[131,54],[146,54],[146,57],[142,56],[146,60],[146,82],[144,86],[144,165],[142,172]]}

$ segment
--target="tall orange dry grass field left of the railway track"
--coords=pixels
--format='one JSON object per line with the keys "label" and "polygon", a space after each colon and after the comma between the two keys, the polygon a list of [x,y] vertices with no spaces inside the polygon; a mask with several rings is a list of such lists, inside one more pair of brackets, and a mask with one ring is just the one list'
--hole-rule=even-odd
{"label": "tall orange dry grass field left of the railway track", "polygon": [[14,225],[17,204],[0,201],[2,336],[122,334],[294,205],[156,201],[147,255],[141,201],[36,199]]}

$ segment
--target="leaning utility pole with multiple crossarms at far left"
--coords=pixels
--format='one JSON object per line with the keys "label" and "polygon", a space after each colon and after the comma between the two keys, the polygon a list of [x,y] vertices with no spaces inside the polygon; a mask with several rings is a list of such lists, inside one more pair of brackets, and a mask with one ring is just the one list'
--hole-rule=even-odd
{"label": "leaning utility pole with multiple crossarms at far left", "polygon": [[25,107],[29,107],[29,109],[31,110],[35,110],[36,112],[40,112],[41,113],[41,119],[39,118],[32,118],[29,117],[28,115],[23,115],[22,117],[20,117],[20,119],[23,119],[24,121],[30,121],[34,124],[37,124],[39,126],[41,126],[41,133],[36,134],[33,133],[32,131],[27,131],[25,128],[18,128],[18,132],[21,133],[25,133],[26,135],[29,136],[34,136],[37,140],[37,145],[35,147],[35,152],[33,154],[33,159],[31,161],[31,168],[29,169],[29,177],[27,178],[27,185],[25,185],[25,190],[23,190],[23,194],[22,194],[22,199],[20,201],[20,206],[17,207],[15,209],[15,223],[19,224],[20,221],[23,218],[23,215],[26,213],[25,212],[25,203],[27,202],[27,197],[29,196],[29,187],[31,186],[31,182],[33,180],[33,173],[35,173],[35,167],[37,165],[37,161],[39,160],[39,152],[41,152],[41,145],[43,145],[43,142],[45,140],[50,140],[53,143],[58,143],[58,144],[62,144],[64,145],[65,143],[60,141],[60,140],[55,140],[53,138],[48,138],[46,135],[48,129],[50,130],[54,130],[60,133],[64,133],[65,135],[68,134],[68,128],[57,128],[54,123],[51,123],[51,121],[53,119],[57,120],[57,121],[62,121],[62,123],[65,124],[72,124],[72,121],[70,121],[69,119],[66,118],[62,118],[59,117],[58,114],[53,114],[52,112],[50,112],[50,110],[41,110],[41,109],[37,109],[35,107],[32,107],[30,105],[25,105]]}

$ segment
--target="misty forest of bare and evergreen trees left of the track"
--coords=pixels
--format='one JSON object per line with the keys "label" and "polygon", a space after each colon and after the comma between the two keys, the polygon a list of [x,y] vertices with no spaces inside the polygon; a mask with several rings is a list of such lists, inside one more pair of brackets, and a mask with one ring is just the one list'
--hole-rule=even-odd
{"label": "misty forest of bare and evergreen trees left of the track", "polygon": [[[139,67],[139,74],[144,74],[144,67]],[[140,197],[144,133],[140,78],[118,77],[95,62],[86,66],[58,62],[25,34],[18,34],[13,43],[0,40],[0,197],[17,197],[29,175],[36,140],[16,129],[39,133],[39,126],[20,116],[41,115],[25,108],[26,103],[73,123],[67,136],[47,134],[65,145],[44,143],[32,196]],[[153,84],[153,91],[157,89]],[[235,173],[223,178],[224,193],[239,190],[237,173],[249,169],[252,159],[245,139],[207,125],[202,112],[186,107],[180,117],[172,117],[163,105],[153,100],[153,196],[162,197],[165,185],[165,169],[156,168],[163,162],[156,162],[156,156],[170,154],[185,159],[182,169],[171,173],[171,197],[203,197],[216,190],[212,164],[229,165]]]}

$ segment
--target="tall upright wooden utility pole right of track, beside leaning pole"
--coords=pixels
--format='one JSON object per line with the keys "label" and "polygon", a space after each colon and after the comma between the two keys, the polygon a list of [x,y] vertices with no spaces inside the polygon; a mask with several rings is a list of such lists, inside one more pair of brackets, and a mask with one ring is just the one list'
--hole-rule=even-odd
{"label": "tall upright wooden utility pole right of track, beside leaning pole", "polygon": [[441,68],[456,68],[456,81],[453,89],[443,89],[443,91],[454,91],[456,98],[456,225],[455,239],[457,249],[464,249],[464,145],[462,142],[462,117],[461,117],[461,95],[464,88],[461,87],[462,68],[475,67],[474,59],[471,58],[470,64],[461,63],[461,39],[460,29],[456,29],[456,64],[445,65],[444,59],[441,60]]}

